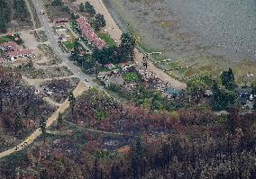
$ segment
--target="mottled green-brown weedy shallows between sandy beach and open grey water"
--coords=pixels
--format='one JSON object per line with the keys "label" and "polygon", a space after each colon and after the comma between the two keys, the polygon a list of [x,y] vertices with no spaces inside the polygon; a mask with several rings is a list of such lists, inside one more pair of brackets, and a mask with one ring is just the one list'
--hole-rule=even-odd
{"label": "mottled green-brown weedy shallows between sandy beach and open grey water", "polygon": [[[208,74],[215,77],[228,67],[233,68],[240,84],[244,82],[244,76],[248,72],[256,76],[256,61],[245,58],[245,56],[242,58],[234,57],[236,54],[232,54],[232,51],[229,53],[233,56],[229,56],[225,49],[203,44],[201,40],[198,40],[198,34],[184,28],[178,16],[172,11],[169,12],[171,16],[168,18],[166,18],[166,14],[160,17],[164,22],[163,26],[167,26],[162,27],[162,31],[170,31],[170,35],[166,37],[160,34],[162,31],[156,30],[157,25],[155,23],[158,21],[154,19],[151,22],[151,18],[157,16],[158,13],[156,15],[149,4],[137,1],[131,3],[128,0],[105,0],[104,4],[123,31],[129,29],[141,37],[143,49],[163,52],[162,56],[158,57],[159,59],[153,59],[152,62],[166,71],[169,76],[174,76],[174,78],[182,81],[187,81],[190,76],[195,74]],[[162,1],[160,4],[162,5]],[[154,7],[157,9],[161,7],[160,4],[154,3],[153,5],[156,5]],[[163,8],[161,11],[169,10],[169,7]],[[149,12],[151,13],[148,14]],[[164,47],[161,48],[158,45]],[[170,58],[170,63],[160,63],[160,60],[164,58]],[[184,67],[190,68],[184,69]]]}

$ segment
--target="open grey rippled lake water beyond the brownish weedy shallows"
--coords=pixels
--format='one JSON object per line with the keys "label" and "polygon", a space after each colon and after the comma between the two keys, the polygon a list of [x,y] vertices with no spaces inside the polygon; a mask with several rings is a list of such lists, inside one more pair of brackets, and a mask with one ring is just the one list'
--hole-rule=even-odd
{"label": "open grey rippled lake water beyond the brownish weedy shallows", "polygon": [[206,45],[256,59],[256,0],[164,0]]}

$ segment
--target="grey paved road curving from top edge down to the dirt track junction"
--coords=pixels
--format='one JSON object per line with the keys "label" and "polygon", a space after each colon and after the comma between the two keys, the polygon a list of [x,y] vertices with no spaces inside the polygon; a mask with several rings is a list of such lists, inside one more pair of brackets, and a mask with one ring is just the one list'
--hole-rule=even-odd
{"label": "grey paved road curving from top edge down to the dirt track junction", "polygon": [[[63,61],[63,65],[68,67],[69,70],[74,74],[74,77],[78,77],[82,82],[86,83],[88,87],[98,86],[101,88],[101,86],[93,82],[93,79],[95,79],[93,76],[88,76],[84,74],[79,67],[74,65],[73,62],[69,60],[69,53],[64,53],[59,48],[58,39],[50,26],[50,21],[47,15],[41,15],[41,10],[44,10],[41,0],[32,0],[32,4],[34,4],[36,13],[41,22],[41,26],[46,31],[46,35],[48,37],[48,40],[50,41],[50,47],[52,48],[53,52]],[[46,11],[44,10],[44,12]],[[88,82],[86,81],[86,79],[88,80]]]}

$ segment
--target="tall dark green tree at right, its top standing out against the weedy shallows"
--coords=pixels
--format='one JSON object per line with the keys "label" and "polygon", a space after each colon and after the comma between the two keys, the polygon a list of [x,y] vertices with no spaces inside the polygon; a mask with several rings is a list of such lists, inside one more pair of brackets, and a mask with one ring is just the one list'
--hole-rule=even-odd
{"label": "tall dark green tree at right, its top standing out against the weedy shallows", "polygon": [[228,71],[224,71],[221,75],[222,85],[228,90],[233,90],[235,88],[235,81],[233,76],[233,71],[228,68]]}

